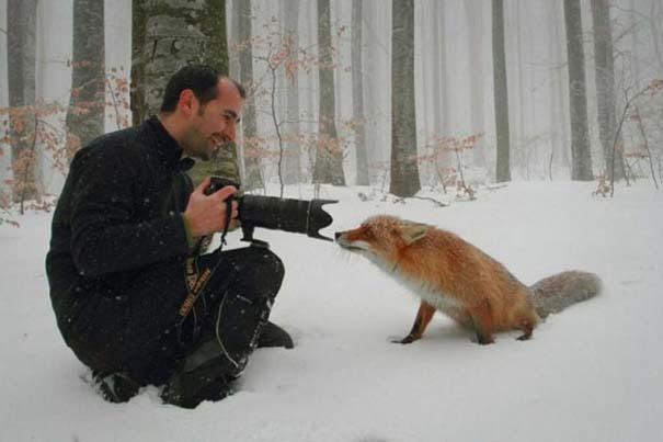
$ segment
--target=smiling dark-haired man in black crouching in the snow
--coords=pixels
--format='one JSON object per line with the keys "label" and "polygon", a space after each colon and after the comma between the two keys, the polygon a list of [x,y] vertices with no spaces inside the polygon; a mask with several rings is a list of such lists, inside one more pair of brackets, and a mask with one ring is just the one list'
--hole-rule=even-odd
{"label": "smiling dark-haired man in black crouching in the snow", "polygon": [[91,141],[71,162],[46,257],[50,299],[108,400],[155,384],[164,401],[193,408],[230,394],[256,345],[293,347],[267,322],[281,260],[264,248],[197,248],[238,216],[226,201],[236,189],[206,195],[207,178],[193,190],[182,157],[207,160],[232,141],[243,98],[210,67],[185,67],[158,116]]}

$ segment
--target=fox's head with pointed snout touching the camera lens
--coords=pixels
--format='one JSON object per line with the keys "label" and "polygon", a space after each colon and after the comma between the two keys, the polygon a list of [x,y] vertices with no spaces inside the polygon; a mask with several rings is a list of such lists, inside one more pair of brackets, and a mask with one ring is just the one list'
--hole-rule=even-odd
{"label": "fox's head with pointed snout touching the camera lens", "polygon": [[371,260],[397,261],[401,250],[426,236],[431,226],[378,215],[352,230],[336,231],[336,243]]}

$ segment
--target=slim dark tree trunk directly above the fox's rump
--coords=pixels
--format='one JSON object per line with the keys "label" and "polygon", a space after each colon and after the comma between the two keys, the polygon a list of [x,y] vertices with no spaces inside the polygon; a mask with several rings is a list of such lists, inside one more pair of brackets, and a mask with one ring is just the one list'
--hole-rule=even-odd
{"label": "slim dark tree trunk directly above the fox's rump", "polygon": [[495,95],[495,129],[498,135],[496,181],[511,181],[508,139],[508,89],[504,54],[504,3],[493,0],[493,82]]}

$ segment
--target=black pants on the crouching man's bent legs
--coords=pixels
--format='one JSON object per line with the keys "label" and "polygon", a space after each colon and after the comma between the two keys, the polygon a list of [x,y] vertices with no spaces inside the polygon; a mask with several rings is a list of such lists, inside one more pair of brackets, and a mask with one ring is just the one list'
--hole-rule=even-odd
{"label": "black pants on the crouching man's bent legs", "polygon": [[[134,305],[125,337],[132,340],[126,372],[139,384],[159,385],[176,371],[209,372],[210,366],[214,373],[236,377],[255,349],[283,281],[282,261],[268,249],[247,247],[202,256],[197,264],[199,273],[214,273],[184,318],[179,314],[186,296],[181,264],[175,281],[170,273],[161,281],[150,275],[151,293],[145,295],[156,299]],[[164,281],[178,284],[178,296],[155,292]],[[164,305],[156,305],[159,299]]]}

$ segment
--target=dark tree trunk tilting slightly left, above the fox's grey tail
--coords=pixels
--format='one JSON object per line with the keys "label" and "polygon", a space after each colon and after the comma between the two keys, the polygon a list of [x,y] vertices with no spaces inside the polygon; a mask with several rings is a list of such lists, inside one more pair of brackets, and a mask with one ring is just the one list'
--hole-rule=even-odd
{"label": "dark tree trunk tilting slightly left, above the fox's grey tail", "polygon": [[582,37],[580,0],[564,0],[567,54],[569,64],[569,97],[571,106],[571,179],[591,181],[592,151],[587,125],[585,90],[585,53]]}

